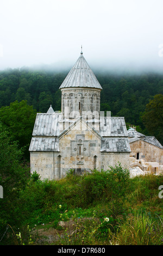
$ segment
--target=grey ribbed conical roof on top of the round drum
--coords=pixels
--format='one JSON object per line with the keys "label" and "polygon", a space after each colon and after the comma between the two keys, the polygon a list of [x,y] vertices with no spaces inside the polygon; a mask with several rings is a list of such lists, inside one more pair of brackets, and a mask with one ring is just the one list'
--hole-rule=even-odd
{"label": "grey ribbed conical roof on top of the round drum", "polygon": [[59,89],[68,87],[90,87],[102,89],[89,64],[87,64],[83,53],[80,54],[76,64],[74,64]]}

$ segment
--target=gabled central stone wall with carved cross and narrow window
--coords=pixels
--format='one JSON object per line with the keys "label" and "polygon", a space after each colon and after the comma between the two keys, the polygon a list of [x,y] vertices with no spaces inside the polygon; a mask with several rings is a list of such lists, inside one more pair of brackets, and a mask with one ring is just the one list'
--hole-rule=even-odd
{"label": "gabled central stone wall with carved cross and narrow window", "polygon": [[70,169],[82,174],[101,166],[101,139],[89,129],[81,130],[81,125],[82,121],[60,138],[61,177]]}

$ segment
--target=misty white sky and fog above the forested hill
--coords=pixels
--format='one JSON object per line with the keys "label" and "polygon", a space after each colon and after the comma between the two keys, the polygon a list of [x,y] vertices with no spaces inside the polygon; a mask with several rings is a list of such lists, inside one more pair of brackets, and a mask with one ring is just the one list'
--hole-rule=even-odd
{"label": "misty white sky and fog above the forested hill", "polygon": [[71,68],[81,45],[91,68],[163,72],[163,1],[0,1],[0,70]]}

